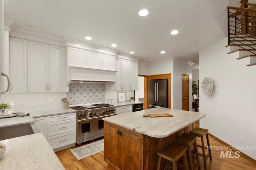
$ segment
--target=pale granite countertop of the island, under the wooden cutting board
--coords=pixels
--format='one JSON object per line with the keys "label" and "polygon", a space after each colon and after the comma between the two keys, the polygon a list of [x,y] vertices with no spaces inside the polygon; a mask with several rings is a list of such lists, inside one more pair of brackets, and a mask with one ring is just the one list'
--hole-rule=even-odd
{"label": "pale granite countertop of the island, under the wooden cutting board", "polygon": [[[143,115],[147,115],[149,113],[170,113],[173,117],[143,117]],[[202,119],[205,116],[205,113],[156,107],[106,117],[103,118],[103,120],[150,137],[163,138],[198,121],[199,119]]]}

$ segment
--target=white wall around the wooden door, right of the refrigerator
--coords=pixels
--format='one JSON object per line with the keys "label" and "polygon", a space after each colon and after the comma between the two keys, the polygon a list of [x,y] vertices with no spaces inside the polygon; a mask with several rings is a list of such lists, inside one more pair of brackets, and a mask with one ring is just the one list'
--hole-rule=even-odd
{"label": "white wall around the wooden door, right of the refrigerator", "polygon": [[182,74],[189,78],[189,110],[192,111],[192,65],[182,61],[173,60],[173,109],[182,110]]}

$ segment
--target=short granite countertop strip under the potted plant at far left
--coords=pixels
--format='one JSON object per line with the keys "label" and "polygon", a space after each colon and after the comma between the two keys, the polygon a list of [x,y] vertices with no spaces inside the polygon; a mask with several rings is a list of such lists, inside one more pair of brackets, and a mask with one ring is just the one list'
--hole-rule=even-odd
{"label": "short granite countertop strip under the potted plant at far left", "polygon": [[31,115],[24,117],[16,116],[0,119],[0,127],[22,125],[27,123],[34,123],[34,119]]}

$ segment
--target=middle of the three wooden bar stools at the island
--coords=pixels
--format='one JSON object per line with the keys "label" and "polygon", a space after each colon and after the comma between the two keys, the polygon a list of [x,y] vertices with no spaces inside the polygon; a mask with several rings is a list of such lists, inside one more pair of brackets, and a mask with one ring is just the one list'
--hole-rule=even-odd
{"label": "middle of the three wooden bar stools at the island", "polygon": [[[179,137],[177,137],[175,139],[175,142],[187,147],[189,169],[194,170],[198,167],[198,170],[201,170],[199,155],[198,155],[198,150],[197,150],[197,145],[196,145],[196,136],[183,133],[182,135],[180,135]],[[192,154],[191,154],[191,145],[194,146],[194,149],[196,151],[196,157],[192,156]],[[192,157],[196,159],[196,165],[194,166],[194,168],[193,168],[193,164],[192,164]]]}

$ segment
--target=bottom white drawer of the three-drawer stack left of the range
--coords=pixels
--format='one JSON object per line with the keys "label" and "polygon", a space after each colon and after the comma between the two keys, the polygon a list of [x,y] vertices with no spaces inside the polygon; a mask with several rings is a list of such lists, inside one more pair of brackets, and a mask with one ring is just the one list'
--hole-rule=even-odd
{"label": "bottom white drawer of the three-drawer stack left of the range", "polygon": [[52,149],[57,149],[66,145],[76,143],[76,131],[64,133],[62,135],[57,135],[54,137],[48,137],[47,141]]}

